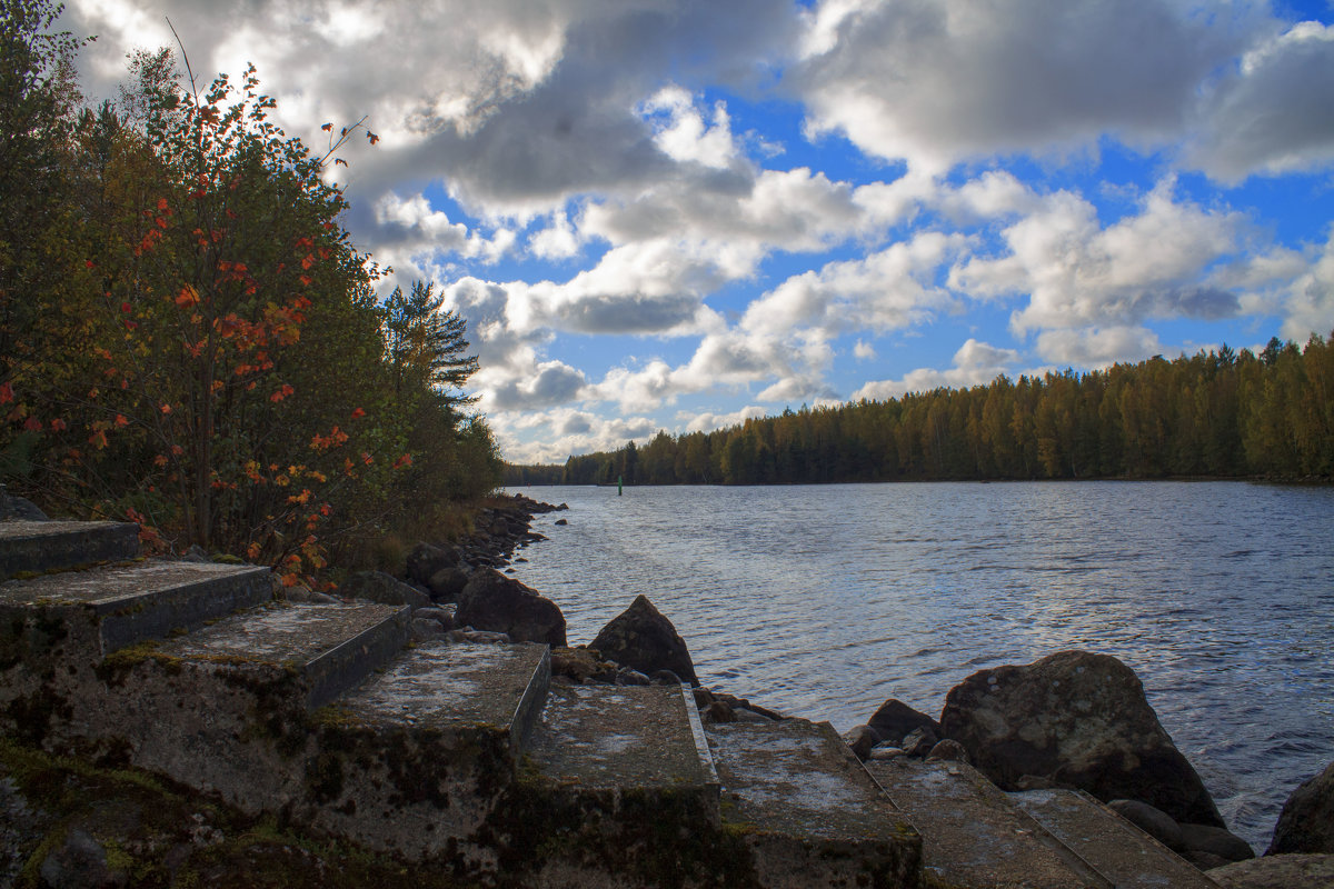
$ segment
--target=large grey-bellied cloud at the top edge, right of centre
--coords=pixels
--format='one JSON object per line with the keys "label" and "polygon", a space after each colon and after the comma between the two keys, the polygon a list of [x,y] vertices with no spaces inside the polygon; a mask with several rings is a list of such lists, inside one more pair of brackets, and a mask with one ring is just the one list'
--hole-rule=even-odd
{"label": "large grey-bellied cloud at the top edge, right of centre", "polygon": [[826,0],[791,83],[812,133],[944,171],[959,160],[1179,132],[1241,28],[1170,0]]}

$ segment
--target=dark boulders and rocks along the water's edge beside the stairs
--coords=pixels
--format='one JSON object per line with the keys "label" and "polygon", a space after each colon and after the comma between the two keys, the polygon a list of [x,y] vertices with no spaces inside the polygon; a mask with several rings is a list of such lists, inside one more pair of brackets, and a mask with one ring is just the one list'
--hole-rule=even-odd
{"label": "dark boulders and rocks along the water's edge beside the stairs", "polygon": [[[570,646],[560,609],[502,573],[514,570],[511,561],[526,561],[516,552],[546,540],[531,530],[534,516],[568,506],[522,494],[511,500],[479,514],[462,544],[418,544],[404,577],[367,572],[340,593],[414,605],[414,632],[423,638],[547,642],[555,682],[680,682],[692,686],[706,724],[788,718],[702,686],[686,641],[643,596],[592,642]],[[890,700],[844,740],[866,762],[958,761],[1002,790],[1086,792],[1223,886],[1334,885],[1334,764],[1293,793],[1257,860],[1226,829],[1139,678],[1114,657],[1059,652],[1030,665],[980,670],[947,693],[939,720]]]}

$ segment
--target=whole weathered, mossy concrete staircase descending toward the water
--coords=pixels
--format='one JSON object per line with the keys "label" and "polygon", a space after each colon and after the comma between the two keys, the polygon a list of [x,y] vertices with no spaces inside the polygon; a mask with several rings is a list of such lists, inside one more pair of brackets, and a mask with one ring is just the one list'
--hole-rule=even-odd
{"label": "whole weathered, mossy concrete staircase descending toward the water", "polygon": [[[1213,886],[1078,794],[866,768],[828,724],[703,726],[690,689],[560,685],[536,644],[0,522],[0,732],[495,886]],[[920,833],[919,833],[920,832]]]}

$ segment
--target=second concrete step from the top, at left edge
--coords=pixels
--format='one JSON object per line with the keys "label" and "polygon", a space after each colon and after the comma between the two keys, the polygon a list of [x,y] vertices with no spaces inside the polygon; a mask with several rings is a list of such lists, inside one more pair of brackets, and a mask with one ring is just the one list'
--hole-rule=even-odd
{"label": "second concrete step from the top, at left edge", "polygon": [[5,581],[0,616],[91,621],[105,654],[272,597],[267,568],[148,560]]}

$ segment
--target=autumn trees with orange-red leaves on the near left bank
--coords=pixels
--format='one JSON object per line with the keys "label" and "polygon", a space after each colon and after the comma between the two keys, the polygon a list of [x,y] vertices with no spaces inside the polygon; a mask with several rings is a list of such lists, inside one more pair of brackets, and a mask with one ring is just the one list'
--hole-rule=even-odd
{"label": "autumn trees with orange-red leaves on the near left bank", "polygon": [[313,580],[420,533],[502,462],[462,393],[463,321],[342,225],[328,176],[253,68],[201,85],[139,53],[88,104],[59,5],[0,19],[0,481],[60,514],[140,521]]}

